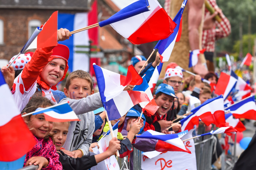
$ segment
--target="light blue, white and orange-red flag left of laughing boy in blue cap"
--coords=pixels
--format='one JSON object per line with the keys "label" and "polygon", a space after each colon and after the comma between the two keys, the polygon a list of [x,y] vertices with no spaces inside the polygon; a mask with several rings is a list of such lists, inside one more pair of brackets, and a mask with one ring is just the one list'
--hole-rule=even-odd
{"label": "light blue, white and orange-red flag left of laughing boy in blue cap", "polygon": [[150,102],[141,102],[140,103],[140,106],[144,109],[144,110],[147,110],[148,113],[150,113],[151,115],[154,115],[157,111],[157,109],[159,108],[159,106],[157,106],[153,96],[152,96],[152,93],[151,93],[151,90],[150,90],[150,87],[147,83],[147,80],[145,77],[143,77],[143,82],[141,85],[138,85],[138,86],[135,86],[133,88],[134,91],[144,91],[147,95],[148,95],[148,98],[150,100]]}

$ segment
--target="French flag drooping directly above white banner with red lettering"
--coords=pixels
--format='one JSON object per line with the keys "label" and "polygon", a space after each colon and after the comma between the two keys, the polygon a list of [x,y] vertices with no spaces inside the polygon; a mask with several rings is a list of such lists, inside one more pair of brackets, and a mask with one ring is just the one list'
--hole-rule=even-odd
{"label": "French flag drooping directly above white banner with red lettering", "polygon": [[137,136],[139,138],[146,138],[146,139],[155,139],[155,140],[161,140],[161,145],[163,148],[159,148],[158,151],[161,151],[161,149],[164,148],[164,143],[168,143],[173,145],[172,148],[168,148],[169,151],[181,151],[181,152],[188,152],[191,154],[191,152],[185,147],[184,143],[181,141],[181,139],[178,137],[177,134],[163,134],[160,132],[156,132],[154,130],[147,130],[143,134]]}

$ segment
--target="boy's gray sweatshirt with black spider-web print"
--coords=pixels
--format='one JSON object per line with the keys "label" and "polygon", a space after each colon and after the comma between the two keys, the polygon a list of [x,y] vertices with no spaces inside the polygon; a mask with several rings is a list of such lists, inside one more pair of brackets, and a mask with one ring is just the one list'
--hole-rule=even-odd
{"label": "boy's gray sweatshirt with black spider-web print", "polygon": [[100,93],[95,93],[80,100],[63,98],[59,103],[69,101],[69,106],[74,110],[80,121],[70,122],[67,140],[63,148],[69,151],[82,149],[84,155],[89,154],[89,147],[92,142],[95,128],[94,113],[102,107]]}

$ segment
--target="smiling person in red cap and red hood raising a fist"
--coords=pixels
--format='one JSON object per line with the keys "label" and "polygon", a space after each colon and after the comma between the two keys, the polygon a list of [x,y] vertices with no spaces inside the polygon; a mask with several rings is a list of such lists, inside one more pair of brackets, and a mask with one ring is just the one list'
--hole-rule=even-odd
{"label": "smiling person in red cap and red hood raising a fist", "polygon": [[[69,39],[69,30],[58,30],[58,41]],[[65,45],[57,45],[36,49],[35,53],[20,75],[13,83],[13,96],[22,110],[36,91],[42,92],[52,103],[57,104],[51,89],[62,81],[68,71],[69,49]],[[18,57],[19,59],[19,57]],[[25,61],[24,61],[25,62]]]}

